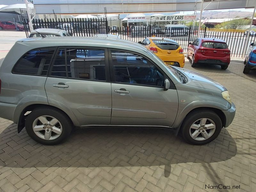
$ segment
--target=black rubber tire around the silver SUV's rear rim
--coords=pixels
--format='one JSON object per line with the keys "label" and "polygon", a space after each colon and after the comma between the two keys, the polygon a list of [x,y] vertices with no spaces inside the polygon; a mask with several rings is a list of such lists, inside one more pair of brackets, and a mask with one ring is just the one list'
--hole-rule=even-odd
{"label": "black rubber tire around the silver SUV's rear rim", "polygon": [[[58,138],[54,140],[44,140],[35,134],[35,132],[33,131],[33,122],[36,120],[36,118],[40,116],[52,116],[60,122],[60,124],[62,125],[62,132]],[[56,145],[68,139],[73,124],[70,118],[64,112],[55,108],[44,107],[37,108],[33,110],[30,114],[28,114],[25,121],[25,127],[26,131],[28,132],[28,135],[36,142],[41,143],[43,145]]]}

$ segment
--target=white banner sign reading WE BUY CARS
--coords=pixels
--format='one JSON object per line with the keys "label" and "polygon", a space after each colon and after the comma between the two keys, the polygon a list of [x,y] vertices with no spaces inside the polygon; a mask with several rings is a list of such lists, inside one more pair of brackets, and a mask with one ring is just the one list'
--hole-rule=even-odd
{"label": "white banner sign reading WE BUY CARS", "polygon": [[196,15],[159,15],[159,16],[145,16],[145,21],[188,21],[195,20]]}

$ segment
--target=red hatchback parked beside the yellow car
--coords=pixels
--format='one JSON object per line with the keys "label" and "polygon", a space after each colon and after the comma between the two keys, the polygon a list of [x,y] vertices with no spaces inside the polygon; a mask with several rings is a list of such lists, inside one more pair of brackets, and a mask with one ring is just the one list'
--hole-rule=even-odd
{"label": "red hatchback parked beside the yellow car", "polygon": [[230,63],[230,50],[225,41],[215,38],[197,38],[188,44],[187,58],[191,59],[191,66],[196,63],[220,65],[227,69]]}

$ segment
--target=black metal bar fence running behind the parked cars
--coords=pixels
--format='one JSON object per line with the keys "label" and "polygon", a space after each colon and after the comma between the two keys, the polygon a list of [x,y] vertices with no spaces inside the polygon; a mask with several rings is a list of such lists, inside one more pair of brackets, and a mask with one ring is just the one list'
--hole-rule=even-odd
{"label": "black metal bar fence running behind the parked cars", "polygon": [[[188,27],[152,27],[149,26],[129,26],[129,27],[109,27],[108,21],[102,19],[41,19],[32,20],[33,29],[36,28],[59,28],[66,30],[71,36],[94,36],[96,34],[117,35],[121,39],[133,42],[143,41],[145,37],[155,36],[170,38],[180,44],[184,52],[187,52],[188,43],[197,38],[198,28]],[[28,20],[24,23],[27,36],[29,27]],[[213,29],[214,30],[214,29]],[[200,28],[199,37],[210,37],[222,39],[228,44],[232,57],[244,57],[246,52],[246,33],[213,31],[209,28]],[[249,36],[249,44],[255,42],[256,36]]]}

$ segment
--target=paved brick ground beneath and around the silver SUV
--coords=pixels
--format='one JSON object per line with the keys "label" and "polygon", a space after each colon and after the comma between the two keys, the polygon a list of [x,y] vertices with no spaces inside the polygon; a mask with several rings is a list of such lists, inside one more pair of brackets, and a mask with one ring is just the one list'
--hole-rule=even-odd
{"label": "paved brick ground beneath and around the silver SUV", "polygon": [[0,191],[198,192],[219,184],[255,191],[256,72],[244,75],[236,63],[193,70],[225,85],[236,104],[233,123],[215,141],[192,146],[169,131],[101,127],[43,146],[0,118]]}

